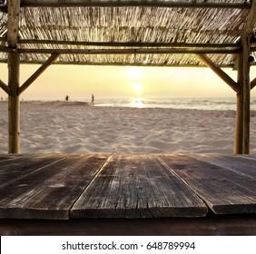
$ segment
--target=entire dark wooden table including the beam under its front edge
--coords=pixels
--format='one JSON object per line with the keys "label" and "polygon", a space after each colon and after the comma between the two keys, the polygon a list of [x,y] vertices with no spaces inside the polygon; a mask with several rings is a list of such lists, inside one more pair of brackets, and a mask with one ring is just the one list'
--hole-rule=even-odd
{"label": "entire dark wooden table including the beam under its front edge", "polygon": [[255,213],[256,155],[0,155],[1,235],[256,235]]}

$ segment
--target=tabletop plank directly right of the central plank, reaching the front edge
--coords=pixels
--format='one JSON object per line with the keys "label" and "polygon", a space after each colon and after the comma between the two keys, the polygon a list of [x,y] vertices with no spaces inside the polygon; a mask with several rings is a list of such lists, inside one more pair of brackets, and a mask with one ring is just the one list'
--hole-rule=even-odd
{"label": "tabletop plank directly right of the central plank, reaching the front edge", "polygon": [[256,212],[255,178],[186,155],[160,155],[159,158],[216,214]]}

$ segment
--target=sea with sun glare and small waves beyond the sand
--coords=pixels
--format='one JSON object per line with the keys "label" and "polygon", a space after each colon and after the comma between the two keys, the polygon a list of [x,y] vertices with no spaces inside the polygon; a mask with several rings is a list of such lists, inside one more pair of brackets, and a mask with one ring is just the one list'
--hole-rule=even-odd
{"label": "sea with sun glare and small waves beyond the sand", "polygon": [[[95,106],[235,111],[236,98],[95,98]],[[256,98],[251,98],[251,110],[256,111]]]}

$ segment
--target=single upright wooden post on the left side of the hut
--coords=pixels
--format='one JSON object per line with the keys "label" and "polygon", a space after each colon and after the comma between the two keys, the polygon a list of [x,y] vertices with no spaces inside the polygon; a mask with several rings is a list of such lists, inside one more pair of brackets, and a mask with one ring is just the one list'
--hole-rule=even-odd
{"label": "single upright wooden post on the left side of the hut", "polygon": [[[18,39],[20,0],[8,0],[7,42],[15,49]],[[19,89],[20,55],[8,53],[8,152],[20,152],[20,101]]]}

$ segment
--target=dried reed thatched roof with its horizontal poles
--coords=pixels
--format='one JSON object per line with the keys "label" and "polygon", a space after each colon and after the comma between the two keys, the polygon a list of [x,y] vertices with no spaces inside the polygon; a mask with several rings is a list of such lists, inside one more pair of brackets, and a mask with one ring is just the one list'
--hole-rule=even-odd
{"label": "dried reed thatched roof with its horizontal poles", "polygon": [[[11,50],[6,42],[5,2],[0,0],[2,63]],[[252,4],[244,0],[23,0],[17,49],[21,63],[44,63],[50,54],[59,53],[55,64],[199,66],[202,62],[196,53],[205,53],[215,64],[232,67]],[[256,58],[255,18],[251,20],[251,54]]]}

